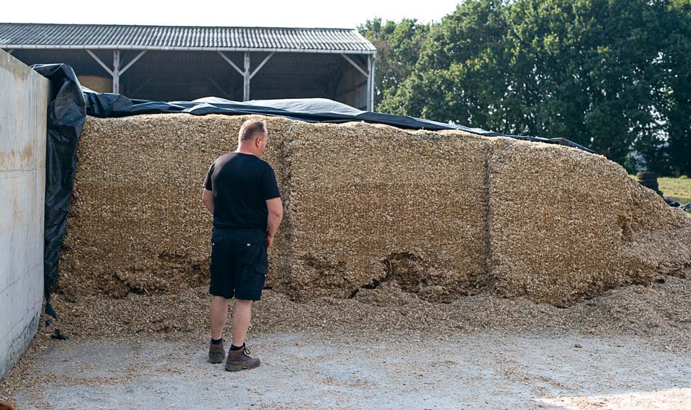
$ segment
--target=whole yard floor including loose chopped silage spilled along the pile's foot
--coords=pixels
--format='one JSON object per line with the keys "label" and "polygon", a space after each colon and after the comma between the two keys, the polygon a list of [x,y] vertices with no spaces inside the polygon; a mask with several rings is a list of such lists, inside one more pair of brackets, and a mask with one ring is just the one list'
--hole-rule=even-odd
{"label": "whole yard floor including loose chopped silage spilled along the pile's foot", "polygon": [[[44,319],[0,399],[21,409],[691,408],[689,279],[567,308],[489,294],[433,304],[395,282],[303,303],[266,290],[248,339],[264,364],[240,375],[204,362],[208,301],[205,288],[56,295],[61,319]],[[51,338],[57,328],[71,338]]]}

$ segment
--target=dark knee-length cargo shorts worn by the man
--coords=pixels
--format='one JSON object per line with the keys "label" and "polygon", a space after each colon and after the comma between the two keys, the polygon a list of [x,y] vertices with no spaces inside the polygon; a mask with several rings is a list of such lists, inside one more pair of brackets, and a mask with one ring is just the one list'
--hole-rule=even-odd
{"label": "dark knee-length cargo shorts worn by the man", "polygon": [[266,246],[262,230],[214,227],[209,293],[226,299],[261,299],[269,268]]}

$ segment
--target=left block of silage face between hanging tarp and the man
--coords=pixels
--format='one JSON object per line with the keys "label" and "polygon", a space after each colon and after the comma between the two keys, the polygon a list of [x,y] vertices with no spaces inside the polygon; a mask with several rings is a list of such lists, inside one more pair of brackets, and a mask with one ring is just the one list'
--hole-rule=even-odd
{"label": "left block of silage face between hanging tarp and the man", "polygon": [[[200,198],[211,162],[237,144],[226,119],[88,118],[61,252],[61,291],[120,297],[208,280],[211,220]],[[280,175],[275,152],[267,150],[267,160]]]}

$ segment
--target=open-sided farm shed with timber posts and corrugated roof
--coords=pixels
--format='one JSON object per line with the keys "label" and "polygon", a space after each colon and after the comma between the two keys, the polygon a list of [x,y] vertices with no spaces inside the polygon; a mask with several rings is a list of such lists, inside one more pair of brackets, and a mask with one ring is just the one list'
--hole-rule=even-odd
{"label": "open-sided farm shed with timber posts and corrugated roof", "polygon": [[0,48],[138,99],[321,97],[372,111],[374,98],[377,50],[353,29],[0,23]]}

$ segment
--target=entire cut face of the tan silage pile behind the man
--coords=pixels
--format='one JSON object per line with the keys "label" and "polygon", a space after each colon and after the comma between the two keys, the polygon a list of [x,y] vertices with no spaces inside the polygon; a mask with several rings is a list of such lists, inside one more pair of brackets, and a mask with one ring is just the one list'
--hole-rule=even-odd
{"label": "entire cut face of the tan silage pile behind the man", "polygon": [[[200,198],[246,117],[88,118],[59,290],[169,294],[208,281]],[[285,219],[267,287],[290,299],[396,283],[429,301],[492,292],[554,305],[691,269],[691,223],[577,149],[265,118]]]}

